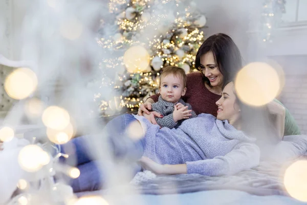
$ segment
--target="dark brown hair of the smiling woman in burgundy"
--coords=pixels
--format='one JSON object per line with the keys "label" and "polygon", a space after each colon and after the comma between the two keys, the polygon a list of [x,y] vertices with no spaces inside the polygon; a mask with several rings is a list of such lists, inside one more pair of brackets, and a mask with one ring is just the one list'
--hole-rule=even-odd
{"label": "dark brown hair of the smiling woman in burgundy", "polygon": [[[223,74],[223,85],[227,81],[234,80],[236,73],[242,68],[242,56],[240,50],[232,38],[225,33],[217,33],[208,37],[199,48],[195,58],[195,68],[201,69],[201,57],[212,52],[218,70]],[[204,75],[205,83],[211,87],[210,80]]]}

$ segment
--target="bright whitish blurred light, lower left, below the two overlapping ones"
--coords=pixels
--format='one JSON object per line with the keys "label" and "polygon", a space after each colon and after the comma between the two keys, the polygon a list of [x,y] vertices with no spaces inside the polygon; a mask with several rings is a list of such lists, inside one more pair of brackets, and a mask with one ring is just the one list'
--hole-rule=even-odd
{"label": "bright whitish blurred light, lower left, below the two overlapping ones", "polygon": [[18,154],[19,166],[27,172],[37,172],[50,162],[50,156],[37,145],[28,145]]}

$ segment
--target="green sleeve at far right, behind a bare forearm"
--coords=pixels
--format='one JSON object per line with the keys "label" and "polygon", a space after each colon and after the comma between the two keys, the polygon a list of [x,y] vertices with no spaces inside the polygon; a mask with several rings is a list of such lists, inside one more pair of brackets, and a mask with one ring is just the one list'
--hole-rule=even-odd
{"label": "green sleeve at far right, behind a bare forearm", "polygon": [[284,136],[287,135],[300,135],[300,129],[298,125],[296,124],[296,121],[294,117],[291,115],[289,110],[282,104],[280,103],[279,100],[274,99],[274,101],[280,105],[282,105],[286,109],[286,117],[284,118]]}

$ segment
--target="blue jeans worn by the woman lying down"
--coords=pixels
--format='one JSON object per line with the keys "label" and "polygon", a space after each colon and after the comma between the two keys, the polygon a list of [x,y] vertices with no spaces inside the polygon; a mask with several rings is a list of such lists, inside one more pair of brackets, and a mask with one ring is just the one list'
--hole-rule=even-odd
{"label": "blue jeans worn by the woman lying down", "polygon": [[[143,139],[134,141],[126,136],[128,126],[134,121],[137,119],[133,115],[124,114],[109,121],[104,128],[108,134],[109,146],[114,157],[128,158],[131,163],[136,162],[144,153]],[[71,182],[74,192],[98,190],[103,188],[105,182],[105,179],[101,177],[103,176],[102,170],[98,168],[97,161],[91,156],[86,137],[80,136],[61,145],[61,152],[69,154],[69,158],[75,159],[74,163],[80,170],[80,176]],[[72,147],[73,149],[71,149]],[[74,150],[74,152],[70,153],[70,150]],[[67,159],[62,158],[61,160],[72,165]],[[135,170],[138,172],[140,168]]]}

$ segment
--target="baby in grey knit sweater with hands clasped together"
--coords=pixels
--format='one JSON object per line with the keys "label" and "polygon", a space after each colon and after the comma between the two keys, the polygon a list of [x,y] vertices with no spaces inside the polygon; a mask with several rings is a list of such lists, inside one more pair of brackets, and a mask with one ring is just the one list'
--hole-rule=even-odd
{"label": "baby in grey knit sweater with hands clasped together", "polygon": [[187,90],[186,79],[187,76],[182,68],[169,66],[163,70],[159,100],[151,107],[152,111],[163,115],[162,118],[156,117],[156,121],[161,127],[177,128],[184,119],[197,116],[192,111],[192,106],[181,99]]}

